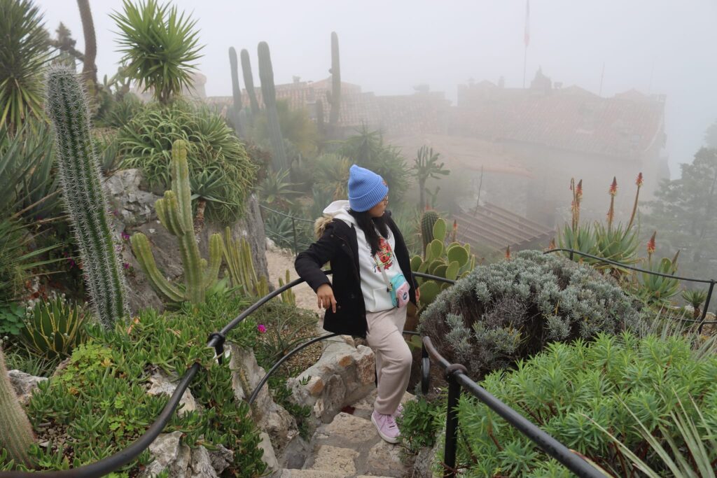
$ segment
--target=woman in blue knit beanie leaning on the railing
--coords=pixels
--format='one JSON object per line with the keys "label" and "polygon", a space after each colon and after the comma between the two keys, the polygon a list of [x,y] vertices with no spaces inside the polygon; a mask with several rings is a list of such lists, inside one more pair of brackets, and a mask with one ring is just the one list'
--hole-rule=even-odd
{"label": "woman in blue knit beanie leaning on the railing", "polygon": [[[348,201],[334,201],[317,221],[320,239],[296,258],[299,276],[326,309],[323,328],[358,335],[376,353],[378,388],[371,421],[382,439],[397,443],[395,418],[411,375],[412,355],[402,332],[406,304],[416,303],[408,249],[386,211],[386,182],[373,171],[353,165]],[[321,267],[331,262],[330,281]]]}

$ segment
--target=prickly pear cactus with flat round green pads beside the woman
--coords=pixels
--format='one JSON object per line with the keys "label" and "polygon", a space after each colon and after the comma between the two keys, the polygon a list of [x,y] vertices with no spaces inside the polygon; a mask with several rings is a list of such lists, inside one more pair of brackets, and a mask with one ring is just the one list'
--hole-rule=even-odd
{"label": "prickly pear cactus with flat round green pads beside the woman", "polygon": [[[456,280],[465,276],[475,267],[475,255],[470,254],[470,244],[451,242],[445,245],[448,235],[447,226],[443,219],[437,219],[433,224],[431,236],[434,238],[427,244],[425,256],[414,256],[411,259],[411,270],[425,274]],[[448,282],[438,282],[433,279],[418,278],[421,290],[420,306],[429,305],[441,290],[450,287]]]}

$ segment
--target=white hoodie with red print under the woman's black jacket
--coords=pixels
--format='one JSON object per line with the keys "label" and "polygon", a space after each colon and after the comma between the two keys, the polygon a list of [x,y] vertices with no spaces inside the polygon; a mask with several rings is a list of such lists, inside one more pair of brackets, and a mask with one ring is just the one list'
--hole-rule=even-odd
{"label": "white hoodie with red print under the woman's black jacket", "polygon": [[[351,214],[348,214],[348,201],[333,201],[326,206],[323,214],[332,216],[334,219],[341,219],[349,226],[356,226],[356,241],[359,243],[359,275],[361,275],[361,293],[364,295],[366,304],[366,312],[379,312],[381,310],[389,310],[394,308],[391,302],[391,292],[387,290],[386,281],[379,264],[385,267],[386,277],[391,280],[392,277],[402,274],[399,262],[394,255],[394,247],[396,239],[391,234],[387,238],[381,237],[381,248],[376,254],[376,258],[371,257],[371,245],[366,240],[366,234],[359,228]],[[381,262],[377,262],[377,261]]]}

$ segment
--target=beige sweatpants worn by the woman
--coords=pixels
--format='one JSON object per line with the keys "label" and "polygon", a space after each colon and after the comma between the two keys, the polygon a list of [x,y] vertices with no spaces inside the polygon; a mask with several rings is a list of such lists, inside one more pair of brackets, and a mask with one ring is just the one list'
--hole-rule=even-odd
{"label": "beige sweatpants worn by the woman", "polygon": [[411,378],[413,357],[403,338],[407,307],[366,312],[369,332],[366,342],[376,354],[376,376],[379,379],[374,410],[393,414]]}

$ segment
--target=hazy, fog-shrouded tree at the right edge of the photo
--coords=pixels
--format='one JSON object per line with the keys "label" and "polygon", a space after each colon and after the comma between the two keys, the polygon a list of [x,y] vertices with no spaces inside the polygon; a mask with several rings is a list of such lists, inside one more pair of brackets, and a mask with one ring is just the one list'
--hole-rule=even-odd
{"label": "hazy, fog-shrouded tree at the right edge of the photo", "polygon": [[717,148],[702,148],[682,177],[663,181],[645,221],[671,249],[683,251],[680,272],[712,278],[717,268]]}

